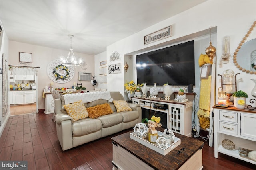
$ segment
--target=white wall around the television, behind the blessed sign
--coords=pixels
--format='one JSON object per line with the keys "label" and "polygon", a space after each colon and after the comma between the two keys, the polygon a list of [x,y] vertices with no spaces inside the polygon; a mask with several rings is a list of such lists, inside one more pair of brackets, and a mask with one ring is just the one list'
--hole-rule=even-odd
{"label": "white wall around the television, behind the blessed sign", "polygon": [[[249,27],[256,20],[255,6],[256,1],[254,0],[208,0],[194,8],[186,10],[185,12],[182,12],[172,18],[168,18],[167,20],[161,21],[156,25],[152,25],[147,29],[131,35],[130,37],[109,45],[107,47],[107,61],[109,61],[109,57],[113,51],[118,51],[118,53],[121,55],[121,61],[119,62],[125,64],[126,59],[124,56],[126,54],[141,51],[146,47],[154,47],[160,43],[172,41],[174,39],[208,29],[209,27],[217,27],[217,42],[213,43],[212,45],[217,49],[216,62],[218,62],[222,55],[223,37],[226,35],[230,36],[230,53],[233,54],[234,50],[238,46],[238,43],[240,43],[242,40],[242,37],[244,37]],[[172,37],[151,43],[149,45],[143,45],[143,37],[145,35],[160,30],[168,25],[172,25]],[[206,47],[208,47],[208,45],[209,43],[205,44]],[[204,51],[202,51],[202,53],[204,53]],[[108,64],[112,64],[112,62],[108,62]],[[254,83],[250,81],[250,79],[255,78],[255,75],[246,74],[238,70],[234,66],[232,59],[229,63],[223,64],[222,67],[217,64],[216,74],[222,74],[222,72],[228,68],[234,70],[235,73],[241,73],[238,77],[242,79],[241,82],[238,83],[238,90],[244,90],[250,94],[250,91],[254,87]],[[133,67],[132,69],[135,68]],[[124,94],[124,82],[126,81],[125,74],[126,73],[123,71],[122,74],[108,75],[108,90],[118,90]],[[118,82],[115,81],[116,78],[118,78]],[[216,88],[218,89],[221,84],[220,79],[218,77],[216,78]],[[112,82],[115,82],[114,86]],[[249,98],[252,98],[252,96],[249,95]],[[248,101],[246,101],[246,103]]]}

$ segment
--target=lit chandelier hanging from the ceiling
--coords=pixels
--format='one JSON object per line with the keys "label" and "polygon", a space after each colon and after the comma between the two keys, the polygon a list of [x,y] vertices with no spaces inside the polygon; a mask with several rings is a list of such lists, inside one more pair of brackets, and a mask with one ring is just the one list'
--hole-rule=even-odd
{"label": "lit chandelier hanging from the ceiling", "polygon": [[70,37],[70,49],[69,49],[68,57],[66,58],[66,60],[64,60],[64,58],[61,57],[60,61],[64,66],[74,66],[74,67],[80,66],[80,64],[82,64],[82,59],[79,59],[79,62],[77,62],[72,49],[72,37],[74,37],[74,35],[68,35],[68,37]]}

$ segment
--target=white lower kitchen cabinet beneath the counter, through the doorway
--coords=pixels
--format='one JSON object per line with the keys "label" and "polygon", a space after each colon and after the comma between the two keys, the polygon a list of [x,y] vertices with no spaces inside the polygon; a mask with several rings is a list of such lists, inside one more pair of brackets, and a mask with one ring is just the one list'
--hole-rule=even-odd
{"label": "white lower kitchen cabinet beneath the counter, through the doorway", "polygon": [[35,102],[35,91],[14,91],[14,104],[29,104]]}

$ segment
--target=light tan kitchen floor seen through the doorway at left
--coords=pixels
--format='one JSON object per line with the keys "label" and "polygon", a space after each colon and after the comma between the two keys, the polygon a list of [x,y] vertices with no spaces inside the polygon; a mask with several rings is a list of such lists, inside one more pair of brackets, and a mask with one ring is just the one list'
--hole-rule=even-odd
{"label": "light tan kitchen floor seen through the doorway at left", "polygon": [[11,116],[36,113],[36,103],[24,105],[10,105]]}

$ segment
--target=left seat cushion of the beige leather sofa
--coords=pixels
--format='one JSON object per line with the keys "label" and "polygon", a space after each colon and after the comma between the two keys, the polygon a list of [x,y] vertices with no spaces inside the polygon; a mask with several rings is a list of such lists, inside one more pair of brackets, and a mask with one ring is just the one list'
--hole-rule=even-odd
{"label": "left seat cushion of the beige leather sofa", "polygon": [[101,130],[102,124],[98,119],[85,118],[72,124],[73,137],[87,135]]}

